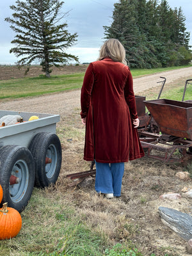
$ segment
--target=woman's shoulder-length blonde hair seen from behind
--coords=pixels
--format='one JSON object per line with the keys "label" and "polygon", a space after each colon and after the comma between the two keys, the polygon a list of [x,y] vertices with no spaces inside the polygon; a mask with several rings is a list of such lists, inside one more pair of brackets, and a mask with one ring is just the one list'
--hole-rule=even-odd
{"label": "woman's shoulder-length blonde hair seen from behind", "polygon": [[104,42],[99,51],[99,58],[97,60],[102,60],[106,57],[111,58],[113,61],[119,61],[127,65],[127,61],[125,60],[125,48],[119,42],[119,40],[115,38],[111,38]]}

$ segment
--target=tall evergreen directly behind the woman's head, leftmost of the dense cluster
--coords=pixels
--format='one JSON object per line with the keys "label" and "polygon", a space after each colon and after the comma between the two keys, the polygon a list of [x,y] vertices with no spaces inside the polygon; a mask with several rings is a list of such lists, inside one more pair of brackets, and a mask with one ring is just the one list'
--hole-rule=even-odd
{"label": "tall evergreen directly behind the woman's head, leftmost of the dense cluster", "polygon": [[138,26],[138,0],[120,0],[114,7],[111,26],[104,26],[105,38],[116,38],[122,42],[130,67],[157,66],[156,56],[148,45],[147,37]]}

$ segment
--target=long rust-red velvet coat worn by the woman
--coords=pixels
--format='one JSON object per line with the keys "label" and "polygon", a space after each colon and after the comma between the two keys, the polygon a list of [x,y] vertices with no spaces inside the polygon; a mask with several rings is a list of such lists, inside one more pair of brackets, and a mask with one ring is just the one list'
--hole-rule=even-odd
{"label": "long rust-red velvet coat worn by the woman", "polygon": [[84,160],[121,163],[144,156],[132,118],[138,118],[129,67],[110,58],[90,63],[81,88],[86,117]]}

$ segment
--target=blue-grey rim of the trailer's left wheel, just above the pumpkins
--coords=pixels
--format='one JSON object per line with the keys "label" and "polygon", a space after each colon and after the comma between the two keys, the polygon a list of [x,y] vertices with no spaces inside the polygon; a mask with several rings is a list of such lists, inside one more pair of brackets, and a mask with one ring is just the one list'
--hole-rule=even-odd
{"label": "blue-grey rim of the trailer's left wheel, just above the pumpkins", "polygon": [[29,168],[26,161],[18,160],[13,166],[12,175],[19,178],[19,183],[10,185],[10,196],[13,202],[19,202],[28,189]]}

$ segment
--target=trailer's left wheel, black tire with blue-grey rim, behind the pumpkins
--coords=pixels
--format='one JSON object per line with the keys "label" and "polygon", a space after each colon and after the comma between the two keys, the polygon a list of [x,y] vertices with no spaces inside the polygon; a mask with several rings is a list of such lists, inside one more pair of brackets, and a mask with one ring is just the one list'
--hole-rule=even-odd
{"label": "trailer's left wheel, black tire with blue-grey rim, behind the pumpkins", "polygon": [[[28,204],[35,183],[35,163],[26,147],[6,145],[0,147],[0,184],[3,188],[1,205],[8,202],[21,212]],[[19,184],[10,185],[10,176],[20,178]]]}

